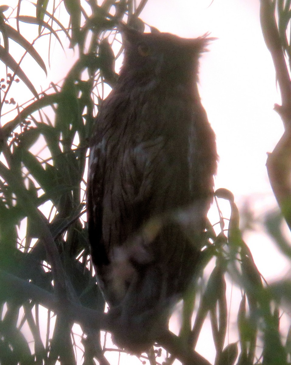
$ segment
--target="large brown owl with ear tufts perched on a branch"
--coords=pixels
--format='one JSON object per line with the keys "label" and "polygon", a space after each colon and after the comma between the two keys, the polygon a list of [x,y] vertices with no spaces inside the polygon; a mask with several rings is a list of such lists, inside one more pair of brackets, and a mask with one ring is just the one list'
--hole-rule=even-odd
{"label": "large brown owl with ear tufts perched on a branch", "polygon": [[210,38],[121,34],[123,66],[92,135],[87,215],[113,342],[139,354],[193,282],[217,152],[197,87]]}

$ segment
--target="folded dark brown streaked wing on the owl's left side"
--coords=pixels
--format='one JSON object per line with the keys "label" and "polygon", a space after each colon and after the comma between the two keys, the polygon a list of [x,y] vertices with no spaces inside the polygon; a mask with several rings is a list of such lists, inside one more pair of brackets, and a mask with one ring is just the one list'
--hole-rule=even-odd
{"label": "folded dark brown streaked wing on the owl's left side", "polygon": [[145,154],[151,154],[155,146],[141,143],[135,148],[130,138],[120,135],[118,126],[126,118],[127,107],[127,97],[112,92],[98,112],[92,136],[86,201],[89,242],[97,267],[112,261],[112,249],[123,245],[140,226],[140,216],[147,216],[144,201],[151,184],[144,177],[151,176],[151,164],[146,164]]}

